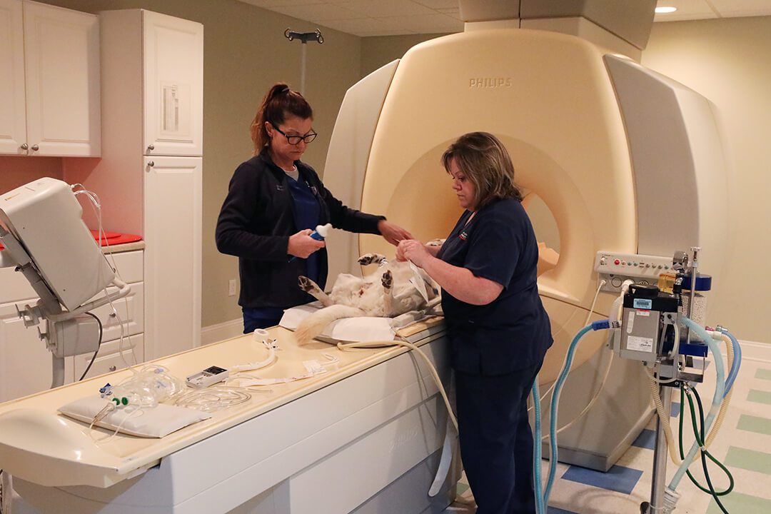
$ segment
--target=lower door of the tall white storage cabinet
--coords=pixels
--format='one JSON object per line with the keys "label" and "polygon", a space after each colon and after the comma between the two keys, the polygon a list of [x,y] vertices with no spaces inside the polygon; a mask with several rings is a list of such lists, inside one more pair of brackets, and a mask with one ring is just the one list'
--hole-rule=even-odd
{"label": "lower door of the tall white storage cabinet", "polygon": [[146,157],[145,358],[200,345],[201,160]]}

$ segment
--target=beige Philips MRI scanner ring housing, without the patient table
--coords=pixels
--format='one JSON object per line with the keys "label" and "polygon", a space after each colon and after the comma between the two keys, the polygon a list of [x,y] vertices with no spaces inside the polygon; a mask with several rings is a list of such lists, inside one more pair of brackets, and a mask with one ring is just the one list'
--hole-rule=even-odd
{"label": "beige Philips MRI scanner ring housing, without the patient table", "polygon": [[[607,318],[621,282],[640,280],[618,267],[604,275],[608,284],[590,314],[598,253],[671,261],[675,250],[702,247],[705,269],[722,266],[726,176],[709,101],[572,35],[468,30],[410,49],[348,91],[325,183],[349,206],[383,213],[420,240],[446,237],[460,208],[439,159],[475,130],[507,146],[526,206],[534,196],[540,200],[531,205],[545,203],[528,211],[537,237],[556,222],[559,258],[538,277],[554,336],[542,391],[587,318]],[[328,240],[330,262],[341,267],[331,273],[352,272],[359,254],[392,254],[367,235],[337,232]],[[582,341],[561,419],[576,418],[598,389],[605,337]],[[642,367],[614,362],[593,411],[561,432],[561,461],[607,471],[651,412]]]}

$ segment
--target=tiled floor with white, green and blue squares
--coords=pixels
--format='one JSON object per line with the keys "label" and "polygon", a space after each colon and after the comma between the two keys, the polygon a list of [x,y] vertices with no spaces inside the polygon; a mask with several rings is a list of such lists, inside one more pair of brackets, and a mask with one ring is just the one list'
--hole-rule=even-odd
{"label": "tiled floor with white, green and blue squares", "polygon": [[[731,471],[736,485],[721,501],[731,514],[771,513],[771,345],[754,344],[752,355],[742,361],[742,369],[734,384],[734,392],[726,419],[710,452]],[[708,369],[699,394],[709,408],[714,391],[715,374]],[[673,395],[679,400],[679,394]],[[688,410],[686,409],[686,414]],[[673,401],[672,429],[678,429],[680,405]],[[685,422],[689,422],[686,418]],[[684,442],[690,447],[689,426],[684,427]],[[571,465],[557,465],[557,477],[549,500],[548,514],[637,514],[641,502],[651,494],[651,467],[655,442],[655,420],[651,420],[631,448],[607,473]],[[545,476],[548,462],[541,466]],[[715,468],[713,472],[712,469]],[[699,459],[690,467],[695,478],[705,484]],[[668,462],[667,483],[676,466]],[[725,489],[728,481],[716,466],[710,476],[717,489]],[[687,477],[678,485],[681,495],[675,514],[719,514],[712,498],[696,489]],[[463,479],[458,496],[446,512],[473,514],[473,494]]]}

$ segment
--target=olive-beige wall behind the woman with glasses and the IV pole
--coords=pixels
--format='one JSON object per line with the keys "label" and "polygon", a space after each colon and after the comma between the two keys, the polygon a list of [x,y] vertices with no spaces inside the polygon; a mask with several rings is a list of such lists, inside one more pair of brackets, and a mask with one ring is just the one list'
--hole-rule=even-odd
{"label": "olive-beige wall behind the woman with glasses and the IV pole", "polygon": [[[201,321],[204,327],[241,317],[227,281],[238,277],[237,258],[214,246],[214,226],[236,166],[251,156],[248,128],[273,82],[300,88],[301,43],[284,29],[316,25],[236,0],[45,0],[84,12],[146,8],[204,24],[204,223]],[[360,38],[321,28],[324,44],[308,43],[305,96],[315,110],[318,139],[304,160],[319,173],[332,127],[348,87],[360,78]],[[107,227],[109,229],[109,227]]]}

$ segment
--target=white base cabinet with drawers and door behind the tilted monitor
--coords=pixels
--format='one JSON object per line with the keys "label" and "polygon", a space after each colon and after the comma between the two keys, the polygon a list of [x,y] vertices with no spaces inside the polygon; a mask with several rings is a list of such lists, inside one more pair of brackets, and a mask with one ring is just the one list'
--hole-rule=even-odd
{"label": "white base cabinet with drawers and door behind the tilted monitor", "polygon": [[[123,324],[123,356],[120,354],[120,324],[109,305],[93,310],[103,324],[102,344],[87,377],[140,364],[144,361],[144,284],[143,252],[115,254],[115,266],[123,281],[131,286],[127,297],[113,302]],[[115,287],[108,288],[115,291]],[[39,338],[45,321],[38,327],[25,327],[16,305],[35,304],[35,291],[21,273],[0,268],[0,402],[12,400],[51,387],[52,356]],[[65,383],[78,380],[93,353],[65,358]]]}

